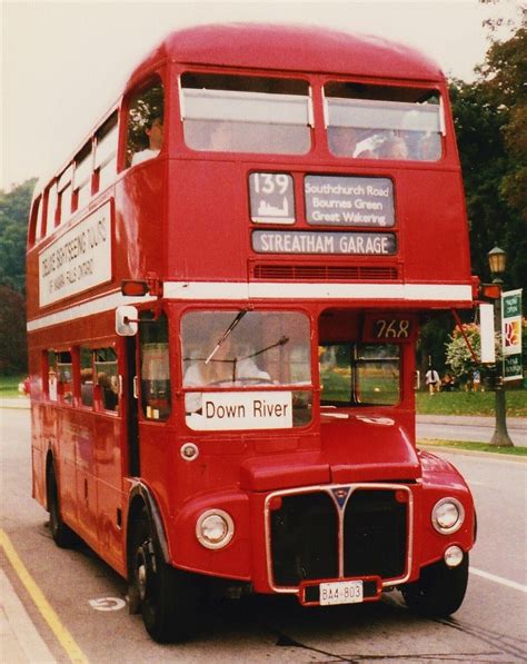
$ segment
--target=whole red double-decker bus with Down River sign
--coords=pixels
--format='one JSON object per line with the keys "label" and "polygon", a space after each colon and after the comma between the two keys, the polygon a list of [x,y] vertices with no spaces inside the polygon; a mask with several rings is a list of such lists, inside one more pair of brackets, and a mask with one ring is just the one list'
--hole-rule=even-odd
{"label": "whole red double-decker bus with Down River sign", "polygon": [[300,27],[171,34],[28,236],[33,495],[157,641],[206,589],[448,615],[470,492],[416,448],[415,344],[473,306],[445,77]]}

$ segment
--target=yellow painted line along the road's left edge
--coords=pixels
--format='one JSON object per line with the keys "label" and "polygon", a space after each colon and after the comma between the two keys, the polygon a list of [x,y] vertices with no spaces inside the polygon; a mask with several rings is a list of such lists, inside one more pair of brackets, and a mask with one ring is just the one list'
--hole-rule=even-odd
{"label": "yellow painted line along the road's left edge", "polygon": [[13,566],[14,572],[18,574],[18,577],[30,594],[31,599],[34,602],[44,621],[48,623],[57,640],[67,652],[71,662],[74,662],[76,664],[88,664],[87,656],[77,645],[68,630],[60,622],[59,616],[54,613],[48,599],[46,599],[44,594],[39,588],[31,574],[28,572],[26,565],[22,563],[13,545],[11,544],[7,533],[2,528],[0,528],[0,544],[6,552],[9,562]]}

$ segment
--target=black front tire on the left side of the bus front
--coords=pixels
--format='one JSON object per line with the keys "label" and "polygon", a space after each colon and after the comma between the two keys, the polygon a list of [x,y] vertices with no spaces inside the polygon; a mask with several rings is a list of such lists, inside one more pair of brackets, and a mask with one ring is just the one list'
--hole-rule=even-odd
{"label": "black front tire on the left side of the bus front", "polygon": [[135,526],[131,556],[133,595],[147,632],[158,643],[188,640],[196,625],[197,584],[165,562],[146,509]]}

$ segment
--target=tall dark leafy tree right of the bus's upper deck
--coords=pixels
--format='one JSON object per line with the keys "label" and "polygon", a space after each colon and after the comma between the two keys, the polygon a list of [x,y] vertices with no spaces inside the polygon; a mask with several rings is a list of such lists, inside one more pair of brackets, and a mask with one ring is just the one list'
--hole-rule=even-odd
{"label": "tall dark leafy tree right of the bus's upper deck", "polygon": [[[527,293],[527,34],[524,26],[518,28],[517,22],[499,17],[489,23],[493,38],[505,23],[508,28],[516,26],[515,32],[505,41],[490,43],[475,82],[450,81],[450,99],[465,184],[473,274],[490,280],[487,254],[498,245],[508,255],[507,286]],[[470,315],[464,314],[464,320]],[[449,329],[451,319],[446,317],[424,326],[420,368],[428,356],[441,368]]]}

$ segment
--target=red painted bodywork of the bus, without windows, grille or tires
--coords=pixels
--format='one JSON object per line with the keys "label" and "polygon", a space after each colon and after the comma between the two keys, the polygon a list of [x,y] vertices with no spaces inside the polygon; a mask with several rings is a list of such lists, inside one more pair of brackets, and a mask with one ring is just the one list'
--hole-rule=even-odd
{"label": "red painted bodywork of the bus, without windows, grille or tires", "polygon": [[[188,69],[287,75],[308,80],[315,111],[312,149],[304,156],[274,157],[190,150],[183,142],[177,86],[178,76]],[[317,388],[317,345],[361,338],[366,315],[406,316],[417,328],[421,315],[431,310],[471,306],[463,184],[443,73],[411,49],[372,37],[276,26],[195,28],[168,38],[133,72],[119,101],[121,120],[126,120],[129,93],[152,73],[161,77],[166,91],[166,142],[161,155],[127,169],[122,121],[115,184],[93,195],[89,209],[79,210],[58,229],[59,234],[66,232],[111,201],[111,280],[40,307],[39,255],[54,236],[40,242],[32,239],[28,248],[34,497],[46,505],[46,469],[52,455],[64,521],[112,567],[127,575],[131,496],[138,495],[140,486],[156,505],[168,559],[173,565],[250,582],[262,593],[298,591],[277,583],[271,571],[274,496],[287,503],[298,492],[319,492],[321,497],[317,499],[325,505],[324,492],[331,487],[367,490],[369,486],[384,486],[394,492],[405,487],[404,501],[409,506],[405,565],[396,579],[384,578],[385,585],[416,579],[420,567],[441,559],[451,544],[467,552],[475,531],[469,489],[453,466],[416,449],[415,336],[400,344],[402,396],[398,405],[356,409],[346,418],[335,419],[320,412]],[[349,159],[331,156],[322,139],[320,90],[326,81],[336,79],[438,90],[446,118],[443,159],[351,165]],[[346,258],[256,254],[251,248],[255,226],[248,200],[248,177],[255,170],[292,175],[295,228],[309,230],[314,226],[306,222],[302,192],[307,175],[389,178],[395,189],[397,252]],[[36,199],[39,195],[37,191]],[[30,230],[30,238],[34,238],[34,231]],[[344,276],[328,276],[331,268]],[[115,308],[125,303],[119,291],[123,279],[145,280],[152,275],[165,285],[159,306],[171,329],[173,405],[167,422],[152,422],[139,408],[140,476],[136,476],[130,473],[130,378],[136,368],[127,355],[126,339],[115,334]],[[346,289],[324,294],[325,285],[336,284]],[[203,289],[196,291],[207,295],[190,299],[186,289],[199,285]],[[222,293],[232,285],[247,295],[229,296],[226,303]],[[299,285],[307,287],[304,295],[297,296],[295,288],[289,291]],[[395,290],[395,286],[401,288]],[[449,286],[457,290],[441,296]],[[415,287],[411,297],[406,295],[408,287]],[[310,288],[312,295],[306,295]],[[274,289],[275,298],[269,289]],[[459,295],[453,297],[451,293]],[[150,309],[151,300],[135,304]],[[236,309],[248,304],[262,309],[301,310],[309,317],[312,419],[308,426],[280,432],[190,430],[181,398],[180,317],[196,305]],[[328,313],[337,313],[334,323],[328,320]],[[90,344],[112,346],[117,351],[121,394],[115,413],[101,407],[97,394],[93,406],[83,406],[78,383],[70,404],[50,402],[44,351],[70,349],[76,370],[78,347]],[[199,448],[192,463],[180,453],[188,443]],[[458,498],[466,512],[463,528],[454,535],[440,535],[430,521],[434,505],[445,496]],[[197,519],[211,508],[227,512],[235,523],[235,536],[223,549],[203,548],[196,537]]]}

